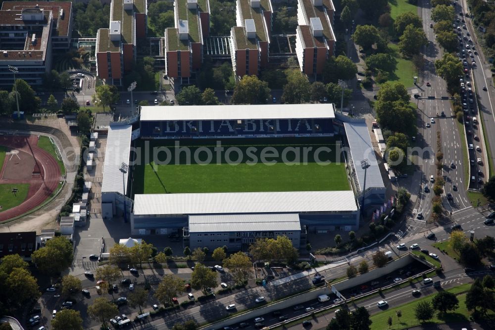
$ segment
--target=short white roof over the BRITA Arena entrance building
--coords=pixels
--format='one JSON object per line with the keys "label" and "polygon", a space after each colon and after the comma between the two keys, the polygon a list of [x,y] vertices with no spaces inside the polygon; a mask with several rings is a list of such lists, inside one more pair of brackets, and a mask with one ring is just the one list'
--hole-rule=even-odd
{"label": "short white roof over the BRITA Arena entrance building", "polygon": [[301,230],[297,213],[192,215],[189,232]]}

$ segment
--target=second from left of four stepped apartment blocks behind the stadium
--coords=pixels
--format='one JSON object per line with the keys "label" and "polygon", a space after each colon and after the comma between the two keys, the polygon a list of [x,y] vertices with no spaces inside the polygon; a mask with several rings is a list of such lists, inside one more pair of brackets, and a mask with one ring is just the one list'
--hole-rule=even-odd
{"label": "second from left of four stepped apartment blocks behind the stadium", "polygon": [[203,61],[203,38],[209,35],[208,0],[175,0],[175,27],[165,29],[165,72],[175,85],[188,84]]}

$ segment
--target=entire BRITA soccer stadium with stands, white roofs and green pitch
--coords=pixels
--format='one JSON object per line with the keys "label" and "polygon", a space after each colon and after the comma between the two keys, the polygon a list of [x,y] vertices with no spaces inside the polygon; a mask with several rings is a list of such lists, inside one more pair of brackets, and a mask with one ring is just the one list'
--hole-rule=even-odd
{"label": "entire BRITA soccer stadium with stands, white roofs and green pitch", "polygon": [[286,235],[298,248],[357,229],[364,185],[365,205],[384,201],[366,124],[332,104],[141,107],[132,121],[108,132],[102,213],[124,213],[133,235],[232,251]]}

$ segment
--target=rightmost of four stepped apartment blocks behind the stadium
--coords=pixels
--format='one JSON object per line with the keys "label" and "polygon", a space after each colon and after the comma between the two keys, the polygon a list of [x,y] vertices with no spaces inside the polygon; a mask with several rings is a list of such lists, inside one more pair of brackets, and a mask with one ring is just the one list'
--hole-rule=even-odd
{"label": "rightmost of four stepped apartment blocks behind the stadium", "polygon": [[301,71],[321,75],[329,55],[334,55],[334,4],[332,0],[297,0],[296,54]]}

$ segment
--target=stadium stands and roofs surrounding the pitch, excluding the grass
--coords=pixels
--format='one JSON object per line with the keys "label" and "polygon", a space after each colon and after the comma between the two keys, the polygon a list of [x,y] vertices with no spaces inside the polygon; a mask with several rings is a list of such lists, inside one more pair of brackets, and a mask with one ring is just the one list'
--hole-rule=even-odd
{"label": "stadium stands and roofs surrounding the pitch, excluding the grass", "polygon": [[[366,147],[371,147],[366,154],[371,166],[365,203],[383,203],[385,187],[365,123],[351,120],[344,125],[336,120],[334,109],[332,104],[141,107],[139,123],[114,123],[108,132],[102,212],[121,215],[127,205],[132,235],[178,233],[190,248],[225,245],[231,251],[246,250],[258,237],[286,235],[299,248],[305,245],[308,232],[356,230],[364,173],[353,164]],[[350,133],[345,135],[342,129]],[[355,181],[352,190],[136,194],[133,200],[124,197],[132,196],[132,170],[129,174],[119,166],[129,162],[131,141],[136,138],[297,139],[333,136],[335,132],[344,136],[344,143],[351,149],[346,154],[346,167],[351,181]]]}

